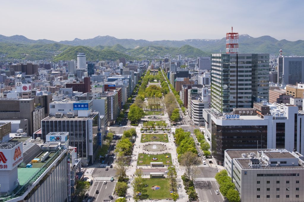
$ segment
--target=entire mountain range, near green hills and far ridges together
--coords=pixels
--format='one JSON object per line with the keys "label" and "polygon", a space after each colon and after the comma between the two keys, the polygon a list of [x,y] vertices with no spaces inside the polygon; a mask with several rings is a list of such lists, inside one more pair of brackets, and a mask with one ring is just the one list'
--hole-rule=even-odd
{"label": "entire mountain range, near green hills and far ridges together", "polygon": [[[187,39],[182,41],[147,41],[117,39],[112,36],[97,36],[92,39],[72,41],[51,41],[47,39],[31,40],[22,35],[0,35],[0,61],[9,60],[71,60],[78,52],[84,52],[88,60],[116,60],[125,57],[128,60],[164,57],[164,55],[182,55],[197,57],[211,53],[225,52],[226,38]],[[278,41],[270,36],[258,38],[249,35],[239,36],[239,53],[270,53],[278,55],[304,55],[304,41]]]}

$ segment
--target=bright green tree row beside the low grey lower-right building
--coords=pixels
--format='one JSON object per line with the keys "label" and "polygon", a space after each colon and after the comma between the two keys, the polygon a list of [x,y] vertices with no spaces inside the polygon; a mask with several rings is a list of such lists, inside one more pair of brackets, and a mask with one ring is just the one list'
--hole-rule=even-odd
{"label": "bright green tree row beside the low grey lower-right building", "polygon": [[219,183],[220,192],[229,202],[240,202],[239,192],[235,189],[235,185],[226,170],[218,172],[215,175],[215,179]]}

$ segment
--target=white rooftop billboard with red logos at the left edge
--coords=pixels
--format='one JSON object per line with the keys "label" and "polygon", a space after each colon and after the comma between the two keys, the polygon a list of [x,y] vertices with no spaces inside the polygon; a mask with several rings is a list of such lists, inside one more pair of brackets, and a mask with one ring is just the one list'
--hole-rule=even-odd
{"label": "white rooftop billboard with red logos at the left edge", "polygon": [[22,143],[11,149],[0,149],[0,171],[11,171],[23,161]]}

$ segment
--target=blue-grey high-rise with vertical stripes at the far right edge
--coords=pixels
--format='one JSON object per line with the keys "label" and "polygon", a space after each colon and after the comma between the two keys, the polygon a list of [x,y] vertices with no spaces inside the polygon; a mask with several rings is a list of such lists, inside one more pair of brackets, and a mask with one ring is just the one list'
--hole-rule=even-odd
{"label": "blue-grey high-rise with vertical stripes at the far right edge", "polygon": [[304,57],[283,57],[282,63],[282,80],[285,84],[304,83]]}

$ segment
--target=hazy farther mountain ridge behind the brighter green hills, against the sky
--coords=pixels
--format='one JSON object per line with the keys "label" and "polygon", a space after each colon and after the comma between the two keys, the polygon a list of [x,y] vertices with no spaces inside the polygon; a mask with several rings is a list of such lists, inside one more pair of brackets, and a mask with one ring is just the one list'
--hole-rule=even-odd
{"label": "hazy farther mountain ridge behind the brighter green hills, against the sky", "polygon": [[[91,39],[75,38],[72,41],[51,41],[47,39],[32,40],[22,35],[4,36],[0,35],[0,42],[13,44],[53,44],[59,43],[63,45],[72,46],[116,46],[120,45],[119,51],[123,48],[133,49],[136,47],[147,46],[163,46],[168,48],[181,48],[185,45],[190,45],[199,48],[204,52],[219,53],[225,52],[226,38],[222,39],[185,39],[182,41],[147,41],[135,39],[118,39],[112,36],[97,36]],[[304,55],[304,41],[287,41],[277,40],[271,36],[251,37],[249,35],[239,35],[239,52],[240,53],[270,53],[271,55],[278,55],[280,48],[283,49],[283,55]],[[125,50],[125,51],[126,51]]]}

